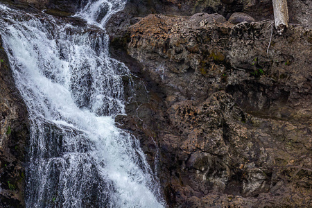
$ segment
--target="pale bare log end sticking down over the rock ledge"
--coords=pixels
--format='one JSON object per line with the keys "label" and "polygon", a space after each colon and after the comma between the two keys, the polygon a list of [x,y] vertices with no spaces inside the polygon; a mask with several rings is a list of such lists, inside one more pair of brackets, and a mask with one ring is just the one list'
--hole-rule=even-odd
{"label": "pale bare log end sticking down over the rock ledge", "polygon": [[288,28],[288,8],[287,0],[272,0],[273,10],[274,10],[274,19],[275,19],[275,28],[277,29],[279,35],[283,33],[285,28]]}

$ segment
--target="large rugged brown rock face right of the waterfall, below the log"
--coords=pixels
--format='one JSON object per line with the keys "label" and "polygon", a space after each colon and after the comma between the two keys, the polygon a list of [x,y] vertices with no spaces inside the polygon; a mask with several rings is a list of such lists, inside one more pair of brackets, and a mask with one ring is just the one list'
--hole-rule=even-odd
{"label": "large rugged brown rock face right of the waterfall, below the log", "polygon": [[311,29],[278,35],[272,21],[207,13],[132,20],[110,31],[112,52],[149,94],[137,87],[116,121],[141,139],[169,207],[309,207]]}

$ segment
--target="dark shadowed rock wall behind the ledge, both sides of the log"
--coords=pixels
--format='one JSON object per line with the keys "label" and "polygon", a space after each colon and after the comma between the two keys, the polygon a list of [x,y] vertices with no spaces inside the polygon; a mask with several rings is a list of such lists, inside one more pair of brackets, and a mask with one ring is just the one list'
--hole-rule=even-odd
{"label": "dark shadowed rock wall behind the ledge, both sides of the log", "polygon": [[[294,0],[288,2],[288,12],[291,24],[300,24],[304,27],[312,27],[312,1]],[[141,17],[150,14],[191,16],[200,12],[207,14],[218,13],[229,19],[235,12],[243,12],[250,15],[255,21],[274,21],[273,6],[271,0],[151,0],[128,1],[124,10],[117,12],[107,23],[107,31],[112,37],[123,36],[127,28],[137,23]]]}

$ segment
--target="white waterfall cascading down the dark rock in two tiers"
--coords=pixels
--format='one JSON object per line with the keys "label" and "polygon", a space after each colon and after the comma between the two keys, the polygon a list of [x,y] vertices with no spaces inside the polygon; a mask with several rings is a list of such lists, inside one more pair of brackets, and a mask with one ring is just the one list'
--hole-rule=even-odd
{"label": "white waterfall cascading down the dark rock in two tiers", "polygon": [[[125,0],[83,1],[89,26],[0,4],[0,33],[28,107],[26,207],[164,207],[139,141],[116,128],[125,65],[104,24]],[[128,86],[130,87],[130,86]]]}

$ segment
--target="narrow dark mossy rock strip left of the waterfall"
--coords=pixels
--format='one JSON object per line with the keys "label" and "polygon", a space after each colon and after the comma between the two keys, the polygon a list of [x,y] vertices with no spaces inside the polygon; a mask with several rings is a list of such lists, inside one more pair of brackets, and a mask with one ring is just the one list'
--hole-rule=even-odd
{"label": "narrow dark mossy rock strip left of the waterfall", "polygon": [[24,162],[29,138],[28,114],[26,105],[15,87],[2,41],[0,94],[0,207],[24,207]]}

